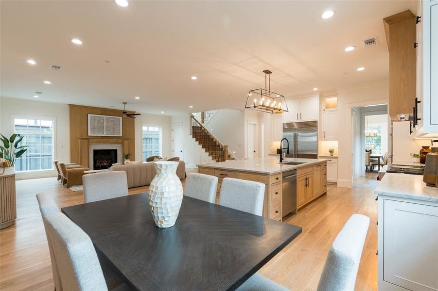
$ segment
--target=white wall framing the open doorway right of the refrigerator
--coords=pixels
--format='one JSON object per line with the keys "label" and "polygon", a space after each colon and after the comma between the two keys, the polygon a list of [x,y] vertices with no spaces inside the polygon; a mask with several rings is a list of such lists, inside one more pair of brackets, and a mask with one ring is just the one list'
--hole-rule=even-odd
{"label": "white wall framing the open doorway right of the refrigerator", "polygon": [[338,92],[339,112],[339,158],[338,186],[351,187],[351,110],[353,107],[387,104],[389,86],[387,82]]}

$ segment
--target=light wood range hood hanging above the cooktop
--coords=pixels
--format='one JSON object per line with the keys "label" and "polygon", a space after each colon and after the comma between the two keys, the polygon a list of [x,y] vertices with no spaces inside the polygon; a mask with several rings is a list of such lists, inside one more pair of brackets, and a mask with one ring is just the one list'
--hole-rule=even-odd
{"label": "light wood range hood hanging above the cooktop", "polygon": [[398,121],[413,113],[416,97],[416,16],[406,10],[383,22],[389,50],[388,114]]}

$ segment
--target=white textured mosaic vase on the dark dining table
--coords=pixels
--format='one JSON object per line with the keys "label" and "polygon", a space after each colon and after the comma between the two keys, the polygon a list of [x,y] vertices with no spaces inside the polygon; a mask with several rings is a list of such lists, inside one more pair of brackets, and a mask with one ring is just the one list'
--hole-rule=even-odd
{"label": "white textured mosaic vase on the dark dining table", "polygon": [[155,225],[175,225],[182,203],[182,184],[176,176],[177,162],[155,162],[157,175],[149,186],[149,206]]}

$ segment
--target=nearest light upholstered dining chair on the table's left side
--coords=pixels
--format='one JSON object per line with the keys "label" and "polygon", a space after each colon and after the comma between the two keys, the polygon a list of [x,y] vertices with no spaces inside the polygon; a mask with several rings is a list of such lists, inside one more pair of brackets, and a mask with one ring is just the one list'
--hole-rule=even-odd
{"label": "nearest light upholstered dining chair on the table's left side", "polygon": [[[108,290],[99,259],[88,235],[60,212],[44,218],[63,290]],[[125,284],[114,291],[129,290]]]}

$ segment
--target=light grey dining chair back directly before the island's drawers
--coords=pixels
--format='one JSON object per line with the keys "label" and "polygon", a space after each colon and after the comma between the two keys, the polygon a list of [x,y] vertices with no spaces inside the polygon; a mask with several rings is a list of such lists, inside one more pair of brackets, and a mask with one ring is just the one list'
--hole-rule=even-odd
{"label": "light grey dining chair back directly before the island's drawers", "polygon": [[219,205],[262,216],[264,188],[265,185],[259,182],[224,178]]}

